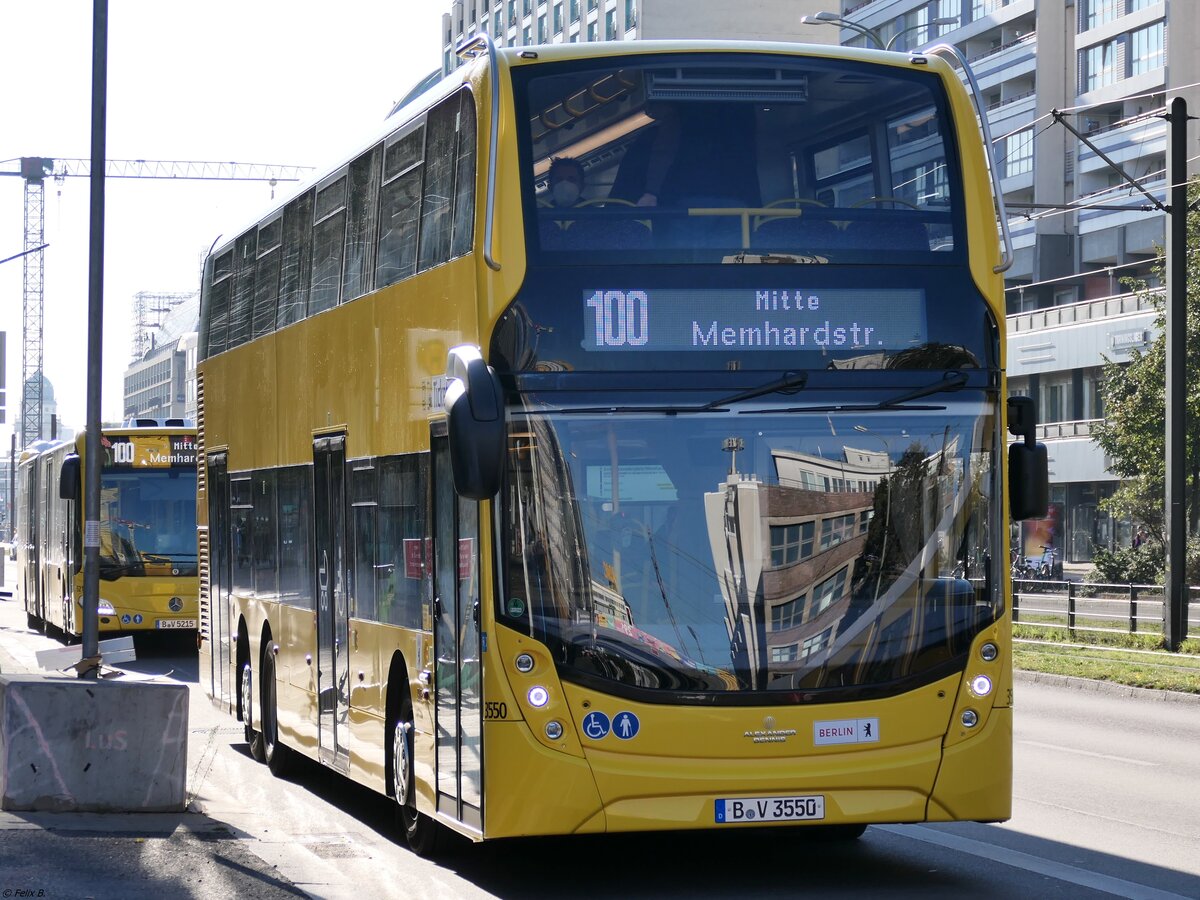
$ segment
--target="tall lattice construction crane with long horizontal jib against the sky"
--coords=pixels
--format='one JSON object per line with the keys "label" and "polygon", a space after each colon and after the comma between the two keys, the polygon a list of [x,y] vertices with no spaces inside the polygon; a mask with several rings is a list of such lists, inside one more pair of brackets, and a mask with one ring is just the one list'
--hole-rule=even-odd
{"label": "tall lattice construction crane with long horizontal jib against the sky", "polygon": [[[67,178],[90,178],[91,160],[23,156],[5,160],[0,166],[18,163],[16,170],[0,169],[0,175],[17,175],[25,181],[25,245],[19,256],[25,272],[22,287],[22,398],[20,446],[42,434],[42,310],[44,306],[46,180],[62,182]],[[104,178],[150,178],[180,181],[266,181],[275,196],[281,181],[299,181],[312,169],[305,166],[269,163],[198,162],[194,160],[106,160]]]}

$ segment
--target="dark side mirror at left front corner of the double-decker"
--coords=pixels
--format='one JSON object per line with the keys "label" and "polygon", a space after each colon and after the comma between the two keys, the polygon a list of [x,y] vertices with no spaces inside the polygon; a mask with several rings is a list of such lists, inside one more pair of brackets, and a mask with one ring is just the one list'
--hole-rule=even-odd
{"label": "dark side mirror at left front corner of the double-decker", "polygon": [[469,500],[491,499],[504,474],[504,394],[479,348],[451,348],[446,359],[446,425],[455,491]]}

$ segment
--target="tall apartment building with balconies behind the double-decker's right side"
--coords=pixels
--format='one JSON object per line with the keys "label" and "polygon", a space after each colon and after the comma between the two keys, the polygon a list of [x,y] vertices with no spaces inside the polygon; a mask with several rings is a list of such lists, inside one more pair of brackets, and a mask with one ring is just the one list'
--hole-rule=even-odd
{"label": "tall apartment building with balconies behind the double-decker's right side", "polygon": [[[884,40],[911,29],[898,38],[901,49],[946,41],[971,61],[1015,251],[1006,274],[1009,390],[1037,398],[1050,455],[1051,523],[1026,540],[1026,552],[1039,552],[1034,544],[1046,534],[1075,563],[1091,560],[1096,547],[1128,546],[1133,523],[1098,505],[1117,478],[1091,427],[1104,415],[1105,360],[1128,359],[1156,336],[1153,311],[1124,280],[1154,283],[1166,216],[1138,185],[1165,197],[1169,101],[1182,96],[1200,112],[1200,5],[853,0],[840,14]],[[934,19],[953,22],[928,24]],[[840,31],[845,43],[870,40]]]}

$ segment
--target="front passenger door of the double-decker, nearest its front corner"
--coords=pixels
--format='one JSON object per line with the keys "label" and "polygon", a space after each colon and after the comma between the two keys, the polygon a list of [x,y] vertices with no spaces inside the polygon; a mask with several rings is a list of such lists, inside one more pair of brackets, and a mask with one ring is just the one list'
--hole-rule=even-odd
{"label": "front passenger door of the double-decker, nearest its front corner", "polygon": [[479,504],[455,493],[446,438],[432,448],[438,811],[482,830]]}

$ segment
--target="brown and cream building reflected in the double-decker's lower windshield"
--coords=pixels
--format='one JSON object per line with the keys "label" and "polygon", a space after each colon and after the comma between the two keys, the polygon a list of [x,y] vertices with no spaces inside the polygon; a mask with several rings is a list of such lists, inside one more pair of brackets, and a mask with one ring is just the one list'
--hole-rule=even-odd
{"label": "brown and cream building reflected in the double-decker's lower windshield", "polygon": [[887,454],[842,448],[841,460],[775,450],[778,484],[730,475],[704,497],[734,666],[751,688],[824,649],[850,606]]}

